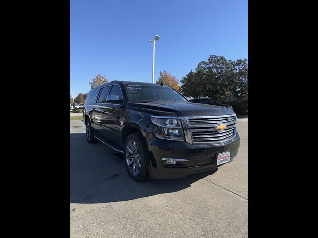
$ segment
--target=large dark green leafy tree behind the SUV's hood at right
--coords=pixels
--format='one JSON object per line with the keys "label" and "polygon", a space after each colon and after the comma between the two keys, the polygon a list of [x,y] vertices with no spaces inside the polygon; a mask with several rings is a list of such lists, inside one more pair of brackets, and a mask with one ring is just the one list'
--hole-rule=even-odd
{"label": "large dark green leafy tree behind the SUV's hood at right", "polygon": [[211,55],[182,78],[181,91],[188,97],[248,96],[248,60],[231,61]]}

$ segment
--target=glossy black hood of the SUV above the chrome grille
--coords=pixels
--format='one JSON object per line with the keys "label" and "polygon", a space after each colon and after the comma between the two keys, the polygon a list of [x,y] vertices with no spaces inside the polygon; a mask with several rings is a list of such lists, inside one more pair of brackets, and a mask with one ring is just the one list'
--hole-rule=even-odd
{"label": "glossy black hood of the SUV above the chrome grille", "polygon": [[[234,114],[230,108],[190,102],[132,103],[134,110],[158,116],[215,116]],[[137,109],[138,108],[138,109]]]}

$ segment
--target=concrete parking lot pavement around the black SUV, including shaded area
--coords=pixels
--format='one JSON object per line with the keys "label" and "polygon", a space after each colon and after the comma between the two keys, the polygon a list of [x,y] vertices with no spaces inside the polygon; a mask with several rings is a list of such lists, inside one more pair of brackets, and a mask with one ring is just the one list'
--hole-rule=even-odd
{"label": "concrete parking lot pavement around the black SUV, including shaded area", "polygon": [[248,119],[238,155],[218,170],[135,182],[122,156],[70,121],[70,238],[247,238]]}

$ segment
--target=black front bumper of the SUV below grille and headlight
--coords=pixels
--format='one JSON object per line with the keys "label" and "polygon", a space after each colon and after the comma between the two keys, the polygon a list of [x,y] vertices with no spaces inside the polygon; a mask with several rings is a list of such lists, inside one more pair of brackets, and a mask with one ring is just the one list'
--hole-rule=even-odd
{"label": "black front bumper of the SUV below grille and headlight", "polygon": [[[240,144],[239,133],[222,145],[191,145],[186,142],[174,142],[152,138],[148,141],[150,166],[149,176],[152,179],[177,179],[189,174],[213,170],[217,165],[216,154],[230,151],[230,162],[237,155]],[[167,165],[162,158],[183,159],[175,165]]]}

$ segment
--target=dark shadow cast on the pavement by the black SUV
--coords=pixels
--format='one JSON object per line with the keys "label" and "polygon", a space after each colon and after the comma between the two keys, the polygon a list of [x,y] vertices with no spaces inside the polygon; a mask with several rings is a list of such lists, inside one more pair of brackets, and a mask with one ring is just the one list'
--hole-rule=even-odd
{"label": "dark shadow cast on the pavement by the black SUV", "polygon": [[177,192],[217,171],[182,179],[132,180],[123,156],[102,143],[88,144],[84,133],[70,134],[70,203],[107,203]]}

